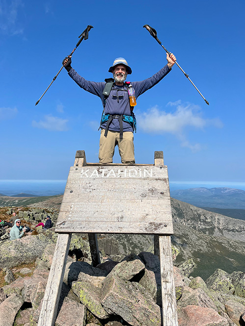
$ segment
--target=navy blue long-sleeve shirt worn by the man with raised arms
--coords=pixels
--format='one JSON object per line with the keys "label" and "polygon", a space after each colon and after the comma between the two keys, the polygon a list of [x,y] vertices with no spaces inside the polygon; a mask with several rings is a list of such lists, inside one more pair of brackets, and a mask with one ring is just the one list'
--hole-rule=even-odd
{"label": "navy blue long-sleeve shirt worn by the man with raised arms", "polygon": [[[131,82],[133,88],[135,89],[136,99],[139,95],[143,94],[148,89],[155,86],[160,80],[163,79],[165,75],[170,72],[170,68],[165,65],[158,73],[142,81]],[[68,75],[85,91],[97,95],[101,98],[102,103],[104,103],[103,90],[105,88],[105,82],[95,82],[84,79],[80,76],[73,68],[69,71]],[[130,102],[128,96],[128,89],[126,85],[118,86],[113,85],[109,97],[106,100],[105,114],[111,115],[131,115]],[[106,128],[106,123],[101,125],[102,128]],[[119,131],[119,121],[118,119],[113,119],[109,125],[109,130]],[[126,122],[123,122],[123,131],[132,131],[133,128]]]}

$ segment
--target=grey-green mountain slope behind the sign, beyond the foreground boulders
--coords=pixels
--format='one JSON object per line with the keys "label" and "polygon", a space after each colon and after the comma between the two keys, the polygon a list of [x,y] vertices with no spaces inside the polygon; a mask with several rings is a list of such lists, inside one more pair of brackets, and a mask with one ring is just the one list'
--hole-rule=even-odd
{"label": "grey-green mountain slope behind the sign, beyond the foreground boulders", "polygon": [[[6,198],[6,197],[5,197]],[[43,207],[51,211],[60,207],[62,196],[18,199],[18,205]],[[16,198],[7,198],[8,205],[16,204]],[[217,268],[227,273],[245,271],[245,221],[229,218],[191,204],[171,199],[174,235],[172,243],[180,251],[176,264],[193,258],[196,268],[191,276],[207,279]],[[28,214],[25,213],[26,219]],[[30,219],[42,219],[36,212]],[[57,218],[57,210],[52,221]],[[154,252],[153,236],[137,234],[99,234],[99,249],[103,256],[120,260],[129,252]]]}

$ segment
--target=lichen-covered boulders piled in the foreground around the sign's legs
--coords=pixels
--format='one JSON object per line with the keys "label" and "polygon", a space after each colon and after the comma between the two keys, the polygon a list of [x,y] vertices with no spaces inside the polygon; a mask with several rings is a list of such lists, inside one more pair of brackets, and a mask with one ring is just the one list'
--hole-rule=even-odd
{"label": "lichen-covered boulders piled in the foreground around the sign's legs", "polygon": [[[54,248],[46,244],[32,275],[25,268],[14,279],[1,265],[9,284],[0,289],[0,325],[37,325]],[[205,282],[187,270],[174,267],[179,326],[245,325],[245,273],[217,270]],[[97,267],[68,257],[55,326],[161,326],[161,305],[160,262],[152,253]]]}

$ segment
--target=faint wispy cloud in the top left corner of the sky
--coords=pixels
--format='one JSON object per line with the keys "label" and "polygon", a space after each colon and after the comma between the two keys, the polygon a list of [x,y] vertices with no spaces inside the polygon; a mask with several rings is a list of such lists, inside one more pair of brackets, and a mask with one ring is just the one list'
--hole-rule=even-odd
{"label": "faint wispy cloud in the top left corner of the sky", "polygon": [[23,34],[23,28],[17,23],[18,12],[24,4],[22,0],[0,1],[0,30],[4,34]]}

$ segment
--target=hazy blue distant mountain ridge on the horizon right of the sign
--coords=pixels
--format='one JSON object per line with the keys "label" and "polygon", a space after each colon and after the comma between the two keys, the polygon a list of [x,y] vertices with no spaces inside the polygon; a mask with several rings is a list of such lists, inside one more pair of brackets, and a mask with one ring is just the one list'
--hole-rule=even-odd
{"label": "hazy blue distant mountain ridge on the horizon right of the sign", "polygon": [[233,188],[190,188],[174,190],[171,197],[197,207],[245,209],[245,191]]}

